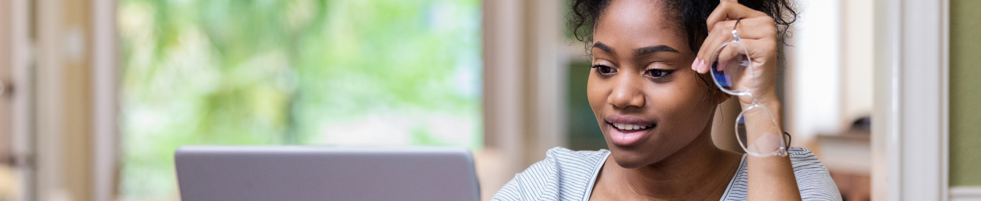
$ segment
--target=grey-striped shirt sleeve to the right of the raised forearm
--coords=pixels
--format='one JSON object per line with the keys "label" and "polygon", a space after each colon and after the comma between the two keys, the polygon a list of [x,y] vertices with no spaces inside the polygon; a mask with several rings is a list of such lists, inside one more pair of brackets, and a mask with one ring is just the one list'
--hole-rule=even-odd
{"label": "grey-striped shirt sleeve to the right of the raised forearm", "polygon": [[802,200],[842,200],[842,193],[838,191],[835,180],[831,179],[828,169],[817,160],[810,149],[793,147],[790,155]]}

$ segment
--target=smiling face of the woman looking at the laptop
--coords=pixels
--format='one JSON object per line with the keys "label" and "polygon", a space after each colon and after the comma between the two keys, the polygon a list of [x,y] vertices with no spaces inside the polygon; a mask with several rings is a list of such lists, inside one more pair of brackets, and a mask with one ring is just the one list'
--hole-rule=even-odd
{"label": "smiling face of the woman looking at the laptop", "polygon": [[649,0],[615,0],[597,19],[587,93],[624,168],[657,163],[710,132],[724,100],[692,71],[695,55],[675,15]]}

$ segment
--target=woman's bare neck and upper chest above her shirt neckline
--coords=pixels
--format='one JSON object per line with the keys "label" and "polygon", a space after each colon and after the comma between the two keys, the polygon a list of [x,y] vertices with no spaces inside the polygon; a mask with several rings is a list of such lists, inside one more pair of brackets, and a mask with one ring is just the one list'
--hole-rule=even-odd
{"label": "woman's bare neck and upper chest above her shirt neckline", "polygon": [[[710,131],[667,158],[637,169],[624,169],[612,159],[604,164],[614,189],[629,189],[627,200],[718,200],[739,169],[740,154],[712,144]],[[636,197],[635,197],[636,196]]]}

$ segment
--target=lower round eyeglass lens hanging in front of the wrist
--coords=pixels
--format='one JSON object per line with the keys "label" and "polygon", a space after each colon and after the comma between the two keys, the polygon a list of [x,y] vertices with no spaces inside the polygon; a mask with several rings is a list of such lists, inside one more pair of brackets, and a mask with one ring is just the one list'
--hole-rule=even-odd
{"label": "lower round eyeglass lens hanging in front of the wrist", "polygon": [[778,154],[788,139],[776,118],[762,106],[751,106],[736,119],[736,137],[747,153],[755,156]]}

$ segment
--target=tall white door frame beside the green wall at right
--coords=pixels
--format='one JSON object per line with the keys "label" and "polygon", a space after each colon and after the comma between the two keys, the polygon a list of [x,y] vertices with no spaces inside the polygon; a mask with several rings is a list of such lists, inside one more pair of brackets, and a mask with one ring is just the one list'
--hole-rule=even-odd
{"label": "tall white door frame beside the green wall at right", "polygon": [[873,200],[949,200],[949,5],[875,0]]}

